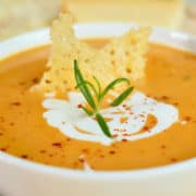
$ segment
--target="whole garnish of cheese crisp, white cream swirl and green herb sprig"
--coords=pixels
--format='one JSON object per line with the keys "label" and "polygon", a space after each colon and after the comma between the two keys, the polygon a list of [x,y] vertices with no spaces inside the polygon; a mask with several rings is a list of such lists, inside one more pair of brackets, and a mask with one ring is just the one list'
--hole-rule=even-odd
{"label": "whole garnish of cheese crisp, white cream swirl and green herb sprig", "polygon": [[[61,35],[64,23],[66,23],[66,28],[63,28],[64,34]],[[120,86],[119,90],[110,90],[118,84],[127,85],[130,79],[135,82],[144,77],[148,29],[131,30],[111,39],[103,48],[95,49],[75,37],[72,25],[69,15],[61,15],[53,25],[50,68],[44,74],[39,85],[41,90],[62,91],[70,96],[64,101],[60,101],[54,96],[53,101],[47,99],[42,102],[44,108],[47,109],[44,118],[50,125],[58,127],[72,138],[111,144],[122,139],[148,137],[162,132],[177,121],[177,110],[173,106],[161,105],[139,91],[130,96],[133,86]],[[86,53],[88,57],[85,56]],[[81,93],[74,93],[75,85]],[[105,88],[100,89],[100,86]],[[120,93],[122,90],[123,93]],[[115,95],[111,96],[112,93]],[[73,96],[74,99],[72,99]],[[128,97],[130,100],[125,102]],[[74,101],[79,100],[79,107],[75,110]],[[120,105],[123,101],[127,107],[122,109]],[[63,107],[64,111],[61,110]],[[78,108],[83,109],[88,117],[79,112]],[[140,133],[139,130],[146,124],[149,114],[157,122],[149,128],[149,134]],[[98,122],[99,127],[95,122]],[[99,134],[100,131],[103,135]],[[138,134],[135,135],[135,133]]]}

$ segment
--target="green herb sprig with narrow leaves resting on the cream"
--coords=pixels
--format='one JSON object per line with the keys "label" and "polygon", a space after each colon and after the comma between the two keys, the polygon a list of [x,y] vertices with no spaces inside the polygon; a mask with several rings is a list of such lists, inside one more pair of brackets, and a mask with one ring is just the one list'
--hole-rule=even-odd
{"label": "green herb sprig with narrow leaves resting on the cream", "polygon": [[[82,107],[83,111],[87,114],[87,115],[95,115],[96,120],[101,128],[101,131],[105,133],[106,136],[108,137],[112,137],[111,133],[110,133],[110,128],[107,124],[107,122],[105,121],[105,118],[99,113],[99,109],[101,106],[101,102],[105,98],[105,96],[108,94],[108,91],[110,89],[112,89],[115,85],[120,84],[120,83],[127,83],[130,84],[130,79],[122,77],[122,78],[117,78],[114,81],[112,81],[102,91],[101,91],[101,85],[100,82],[98,81],[98,78],[96,76],[93,76],[95,82],[96,82],[96,88],[94,86],[93,83],[85,81],[83,78],[83,75],[79,71],[78,68],[78,63],[77,60],[74,60],[74,74],[75,74],[75,81],[76,81],[76,87],[81,90],[81,93],[83,94],[84,98],[86,99],[87,103],[91,107],[90,110],[86,107]],[[127,97],[128,95],[132,93],[132,90],[134,89],[134,87],[130,87],[126,90],[124,90],[118,98],[115,98],[113,100],[113,102],[111,103],[111,106],[115,107],[121,105]],[[95,94],[95,97],[97,99],[97,101],[95,101],[91,91]]]}

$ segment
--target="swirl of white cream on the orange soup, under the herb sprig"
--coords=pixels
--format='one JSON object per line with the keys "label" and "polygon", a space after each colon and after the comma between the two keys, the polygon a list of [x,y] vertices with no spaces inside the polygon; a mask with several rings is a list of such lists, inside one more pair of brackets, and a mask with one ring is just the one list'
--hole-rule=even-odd
{"label": "swirl of white cream on the orange soup, under the herb sprig", "polygon": [[[47,109],[44,118],[48,124],[71,138],[98,142],[103,145],[123,139],[137,140],[150,137],[169,128],[179,120],[179,111],[174,106],[159,102],[137,91],[124,105],[100,111],[106,119],[109,119],[108,125],[114,136],[109,138],[102,133],[97,121],[78,108],[78,105],[84,102],[79,93],[70,93],[69,100],[46,98],[42,102],[44,108]],[[157,122],[148,131],[142,132],[149,114],[154,115]]]}

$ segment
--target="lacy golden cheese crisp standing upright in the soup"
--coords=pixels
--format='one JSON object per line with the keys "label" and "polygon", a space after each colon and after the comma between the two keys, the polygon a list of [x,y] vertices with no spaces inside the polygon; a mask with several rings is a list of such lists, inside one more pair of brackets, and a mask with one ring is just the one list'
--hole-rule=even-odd
{"label": "lacy golden cheese crisp standing upright in the soup", "polygon": [[149,28],[130,30],[97,49],[77,39],[72,17],[61,14],[52,25],[49,70],[45,72],[40,87],[46,91],[62,93],[74,89],[74,59],[87,81],[93,81],[95,75],[102,86],[117,77],[136,81],[144,76],[149,33]]}

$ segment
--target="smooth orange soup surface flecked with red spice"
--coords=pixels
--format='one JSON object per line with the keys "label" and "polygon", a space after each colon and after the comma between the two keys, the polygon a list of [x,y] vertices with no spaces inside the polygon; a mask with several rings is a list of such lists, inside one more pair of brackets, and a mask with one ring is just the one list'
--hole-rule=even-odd
{"label": "smooth orange soup surface flecked with red spice", "polygon": [[[106,40],[88,42],[99,47]],[[46,70],[49,49],[40,47],[0,62],[1,151],[72,169],[84,168],[83,156],[93,170],[150,168],[196,156],[196,56],[151,44],[146,76],[135,87],[176,107],[181,122],[151,137],[106,146],[66,137],[42,118],[44,95],[29,88]],[[148,126],[143,131],[148,132]]]}

